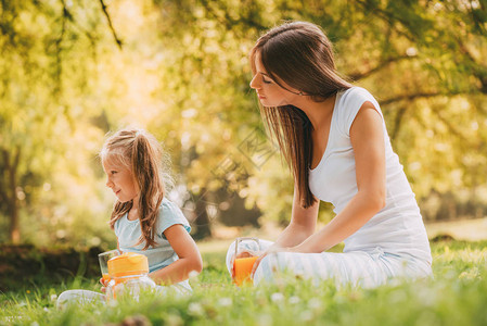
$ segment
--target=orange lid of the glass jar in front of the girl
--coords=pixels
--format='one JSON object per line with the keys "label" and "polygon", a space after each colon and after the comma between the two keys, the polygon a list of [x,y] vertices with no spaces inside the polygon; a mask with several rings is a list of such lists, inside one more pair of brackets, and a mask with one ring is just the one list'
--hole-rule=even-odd
{"label": "orange lid of the glass jar in front of the girl", "polygon": [[149,273],[149,261],[143,254],[125,252],[108,260],[108,274],[112,277],[145,273]]}

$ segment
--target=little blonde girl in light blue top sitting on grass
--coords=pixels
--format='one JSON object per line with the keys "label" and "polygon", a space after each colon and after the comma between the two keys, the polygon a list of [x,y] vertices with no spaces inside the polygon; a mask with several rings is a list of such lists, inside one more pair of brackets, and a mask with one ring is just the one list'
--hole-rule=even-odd
{"label": "little blonde girl in light blue top sitting on grass", "polygon": [[[110,225],[117,236],[118,250],[145,254],[149,276],[156,284],[191,291],[188,278],[191,272],[202,271],[202,258],[184,215],[165,197],[161,145],[145,130],[123,129],[105,141],[100,156],[106,187],[117,197]],[[57,303],[73,299],[104,296],[69,290]]]}

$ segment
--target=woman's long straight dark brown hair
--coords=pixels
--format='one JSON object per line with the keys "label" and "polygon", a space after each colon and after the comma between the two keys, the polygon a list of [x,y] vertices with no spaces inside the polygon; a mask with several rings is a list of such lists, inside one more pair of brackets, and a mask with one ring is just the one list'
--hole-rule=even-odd
{"label": "woman's long straight dark brown hair", "polygon": [[[262,35],[249,55],[254,75],[257,55],[266,73],[279,86],[286,89],[279,84],[283,80],[313,101],[323,101],[351,87],[336,72],[333,46],[315,24],[285,23]],[[308,116],[293,105],[260,106],[260,113],[293,172],[302,206],[309,208],[316,199],[309,189],[312,125]]]}

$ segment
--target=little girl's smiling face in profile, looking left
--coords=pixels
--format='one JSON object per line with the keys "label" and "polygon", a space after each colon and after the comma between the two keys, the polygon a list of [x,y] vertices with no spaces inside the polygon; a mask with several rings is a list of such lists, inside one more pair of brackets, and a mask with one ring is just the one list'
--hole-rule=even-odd
{"label": "little girl's smiling face in profile, looking left", "polygon": [[137,199],[139,190],[132,172],[123,164],[115,164],[114,160],[103,160],[106,174],[106,187],[111,188],[120,202]]}

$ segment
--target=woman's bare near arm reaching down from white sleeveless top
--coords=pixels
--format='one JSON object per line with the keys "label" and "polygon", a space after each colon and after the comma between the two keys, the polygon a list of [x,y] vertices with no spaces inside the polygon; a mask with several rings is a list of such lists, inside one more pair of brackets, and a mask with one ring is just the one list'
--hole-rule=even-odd
{"label": "woman's bare near arm reaching down from white sleeveless top", "polygon": [[371,102],[360,108],[351,128],[358,192],[345,209],[296,252],[322,252],[356,233],[385,205],[385,146],[382,116]]}

